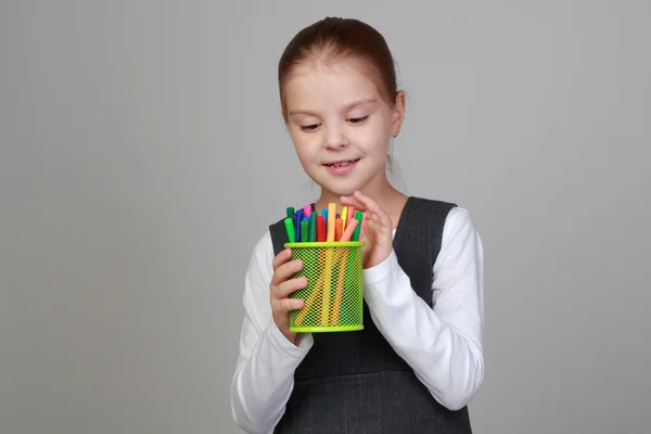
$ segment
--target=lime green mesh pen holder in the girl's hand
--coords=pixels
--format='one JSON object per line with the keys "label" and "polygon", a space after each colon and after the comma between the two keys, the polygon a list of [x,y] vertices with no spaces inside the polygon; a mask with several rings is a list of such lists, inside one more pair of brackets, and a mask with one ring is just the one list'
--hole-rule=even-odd
{"label": "lime green mesh pen holder in the girl's hand", "polygon": [[307,286],[290,298],[305,301],[290,312],[292,332],[345,332],[363,329],[361,241],[286,243],[292,259],[303,260],[293,277],[307,277]]}

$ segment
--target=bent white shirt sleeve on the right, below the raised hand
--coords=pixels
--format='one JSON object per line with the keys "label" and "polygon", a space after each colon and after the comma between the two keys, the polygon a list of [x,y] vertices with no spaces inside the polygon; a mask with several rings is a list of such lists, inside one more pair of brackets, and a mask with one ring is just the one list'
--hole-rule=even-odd
{"label": "bent white shirt sleeve on the right, below the raised hand", "polygon": [[465,209],[448,214],[433,270],[433,308],[411,289],[395,252],[363,271],[365,298],[380,332],[432,396],[458,410],[484,380],[483,246]]}

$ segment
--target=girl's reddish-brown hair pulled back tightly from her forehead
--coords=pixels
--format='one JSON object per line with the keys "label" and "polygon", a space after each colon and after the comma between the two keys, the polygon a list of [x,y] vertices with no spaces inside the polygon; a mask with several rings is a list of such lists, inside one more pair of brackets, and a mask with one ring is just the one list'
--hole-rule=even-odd
{"label": "girl's reddish-brown hair pulled back tightly from her forehead", "polygon": [[[284,86],[292,69],[302,62],[354,58],[365,61],[369,78],[382,99],[393,106],[398,93],[393,55],[384,37],[370,25],[355,18],[326,17],[294,36],[278,64],[278,85],[282,115],[288,120]],[[391,154],[387,163],[393,165]]]}

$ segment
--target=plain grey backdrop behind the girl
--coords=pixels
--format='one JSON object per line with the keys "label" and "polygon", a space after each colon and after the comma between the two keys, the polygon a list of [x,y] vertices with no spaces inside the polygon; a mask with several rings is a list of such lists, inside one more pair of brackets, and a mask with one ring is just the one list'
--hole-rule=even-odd
{"label": "plain grey backdrop behind the girl", "polygon": [[276,66],[324,15],[395,53],[400,186],[482,233],[475,432],[649,433],[647,0],[3,0],[0,432],[239,432],[248,256],[317,193]]}

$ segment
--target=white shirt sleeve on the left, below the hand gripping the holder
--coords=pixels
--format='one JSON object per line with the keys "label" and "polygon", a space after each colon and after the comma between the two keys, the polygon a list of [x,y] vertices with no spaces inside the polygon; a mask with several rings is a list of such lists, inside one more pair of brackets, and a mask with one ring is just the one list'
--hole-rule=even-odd
{"label": "white shirt sleeve on the left, below the hand gripping the holder", "polygon": [[231,382],[231,412],[247,433],[272,433],[294,387],[294,371],[314,340],[298,334],[289,342],[271,317],[269,282],[273,275],[269,233],[256,245],[244,280],[244,320]]}

